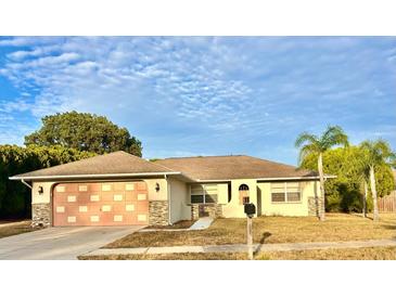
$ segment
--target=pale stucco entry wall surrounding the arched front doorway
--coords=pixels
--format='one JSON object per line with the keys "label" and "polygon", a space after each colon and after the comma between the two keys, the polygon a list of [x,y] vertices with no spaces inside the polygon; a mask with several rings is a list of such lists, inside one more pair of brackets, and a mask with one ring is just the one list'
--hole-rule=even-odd
{"label": "pale stucco entry wall surrounding the arched front doorway", "polygon": [[247,184],[250,191],[250,202],[257,206],[257,182],[253,179],[240,179],[231,181],[231,201],[222,207],[222,215],[226,218],[245,218],[244,207],[240,203],[239,188]]}

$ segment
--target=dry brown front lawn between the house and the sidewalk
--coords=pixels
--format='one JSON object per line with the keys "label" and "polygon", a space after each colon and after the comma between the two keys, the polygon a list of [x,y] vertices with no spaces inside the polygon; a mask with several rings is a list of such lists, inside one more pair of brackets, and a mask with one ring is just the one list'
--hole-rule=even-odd
{"label": "dry brown front lawn between the house and the sidewalk", "polygon": [[[381,214],[373,222],[359,215],[328,214],[324,222],[312,217],[259,217],[253,221],[255,243],[299,243],[380,240],[396,237],[396,214]],[[148,247],[220,245],[246,242],[245,219],[217,219],[201,231],[133,233],[105,246]]]}

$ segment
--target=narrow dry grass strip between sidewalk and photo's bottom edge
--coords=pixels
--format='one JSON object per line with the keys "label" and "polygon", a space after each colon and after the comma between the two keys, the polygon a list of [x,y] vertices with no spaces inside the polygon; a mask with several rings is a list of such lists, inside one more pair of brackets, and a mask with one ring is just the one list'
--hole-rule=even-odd
{"label": "narrow dry grass strip between sidewalk and photo's bottom edge", "polygon": [[[80,256],[80,260],[246,260],[243,253]],[[396,260],[396,247],[260,253],[256,260]]]}

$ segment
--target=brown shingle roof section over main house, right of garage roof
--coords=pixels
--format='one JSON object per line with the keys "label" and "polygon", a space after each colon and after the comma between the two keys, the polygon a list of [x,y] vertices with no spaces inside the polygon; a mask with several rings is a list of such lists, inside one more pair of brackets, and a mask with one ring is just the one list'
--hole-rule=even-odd
{"label": "brown shingle roof section over main house, right of garage roof", "polygon": [[317,177],[309,170],[251,156],[181,157],[156,160],[155,164],[181,171],[195,180],[276,179]]}

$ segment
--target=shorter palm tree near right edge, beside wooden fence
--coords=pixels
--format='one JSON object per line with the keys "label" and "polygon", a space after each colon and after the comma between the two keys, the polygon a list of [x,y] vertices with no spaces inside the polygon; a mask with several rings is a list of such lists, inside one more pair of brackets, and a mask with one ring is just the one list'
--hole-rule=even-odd
{"label": "shorter palm tree near right edge, beside wooden fence", "polygon": [[373,219],[374,221],[378,221],[380,215],[375,185],[375,168],[383,165],[389,165],[392,162],[395,162],[396,155],[392,152],[389,144],[381,139],[376,141],[363,141],[360,144],[360,147],[363,150],[363,162],[367,166],[367,170],[369,170],[370,190],[374,208]]}

